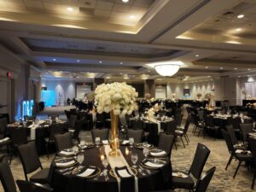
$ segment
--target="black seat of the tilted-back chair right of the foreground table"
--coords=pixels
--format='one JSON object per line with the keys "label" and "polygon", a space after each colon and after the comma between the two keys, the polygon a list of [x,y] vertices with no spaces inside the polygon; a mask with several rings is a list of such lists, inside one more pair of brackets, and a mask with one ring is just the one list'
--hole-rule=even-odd
{"label": "black seat of the tilted-back chair right of the foreground table", "polygon": [[194,188],[194,181],[192,177],[176,177],[172,176],[172,185],[174,188],[179,189],[193,189]]}

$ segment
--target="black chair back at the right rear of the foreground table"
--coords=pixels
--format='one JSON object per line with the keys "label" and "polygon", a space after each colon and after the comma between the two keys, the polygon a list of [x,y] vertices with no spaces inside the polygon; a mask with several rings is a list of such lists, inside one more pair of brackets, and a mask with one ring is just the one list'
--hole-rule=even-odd
{"label": "black chair back at the right rear of the foreground table", "polygon": [[165,150],[167,154],[171,155],[174,141],[174,136],[160,133],[158,148]]}

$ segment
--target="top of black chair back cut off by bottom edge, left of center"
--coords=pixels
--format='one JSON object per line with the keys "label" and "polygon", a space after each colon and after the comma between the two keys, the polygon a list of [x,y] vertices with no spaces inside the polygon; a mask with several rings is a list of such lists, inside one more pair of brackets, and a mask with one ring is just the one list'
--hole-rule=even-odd
{"label": "top of black chair back cut off by bottom edge, left of center", "polygon": [[32,183],[32,182],[21,181],[21,180],[17,180],[16,183],[20,189],[20,192],[52,192],[54,191],[53,189],[39,183]]}

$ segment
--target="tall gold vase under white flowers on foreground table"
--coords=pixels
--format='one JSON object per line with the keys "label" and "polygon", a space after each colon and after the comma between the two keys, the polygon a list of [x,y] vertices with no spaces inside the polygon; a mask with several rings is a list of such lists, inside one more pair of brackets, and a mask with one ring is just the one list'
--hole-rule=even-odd
{"label": "tall gold vase under white flowers on foreground table", "polygon": [[115,115],[113,110],[110,112],[111,117],[111,139],[109,156],[118,157],[119,153],[119,115]]}

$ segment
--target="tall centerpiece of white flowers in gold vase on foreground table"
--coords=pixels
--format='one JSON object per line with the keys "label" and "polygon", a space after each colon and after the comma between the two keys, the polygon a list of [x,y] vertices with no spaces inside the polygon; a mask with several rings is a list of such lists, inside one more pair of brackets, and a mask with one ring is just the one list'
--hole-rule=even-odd
{"label": "tall centerpiece of white flowers in gold vase on foreground table", "polygon": [[119,156],[118,120],[119,114],[131,114],[137,108],[137,92],[128,84],[112,83],[100,84],[95,90],[95,104],[98,113],[109,113],[111,117],[111,140],[112,151],[110,156]]}

